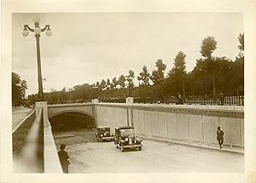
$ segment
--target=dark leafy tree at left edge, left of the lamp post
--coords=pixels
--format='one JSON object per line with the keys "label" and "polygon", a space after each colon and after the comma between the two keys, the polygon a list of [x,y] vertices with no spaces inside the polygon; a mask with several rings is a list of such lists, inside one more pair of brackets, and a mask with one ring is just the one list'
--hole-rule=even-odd
{"label": "dark leafy tree at left edge, left of the lamp post", "polygon": [[25,100],[27,84],[26,80],[21,80],[20,76],[12,71],[12,102],[19,101],[21,103]]}

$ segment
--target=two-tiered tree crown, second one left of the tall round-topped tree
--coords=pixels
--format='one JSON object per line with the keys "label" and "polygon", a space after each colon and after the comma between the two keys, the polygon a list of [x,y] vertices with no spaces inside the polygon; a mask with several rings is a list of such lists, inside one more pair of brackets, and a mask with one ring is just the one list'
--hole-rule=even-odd
{"label": "two-tiered tree crown, second one left of the tall round-topped tree", "polygon": [[158,59],[155,62],[155,66],[157,69],[152,71],[150,79],[154,84],[160,84],[165,79],[164,71],[166,70],[166,64],[163,63],[163,60]]}

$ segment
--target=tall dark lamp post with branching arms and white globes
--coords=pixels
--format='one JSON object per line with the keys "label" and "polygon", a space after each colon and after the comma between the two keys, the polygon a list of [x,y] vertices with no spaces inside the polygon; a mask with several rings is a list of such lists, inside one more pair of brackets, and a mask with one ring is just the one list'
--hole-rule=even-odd
{"label": "tall dark lamp post with branching arms and white globes", "polygon": [[33,19],[33,22],[34,22],[35,28],[32,29],[28,25],[24,25],[22,35],[24,37],[27,37],[28,34],[29,34],[29,31],[35,32],[36,43],[37,43],[37,57],[38,57],[38,100],[39,101],[44,101],[39,38],[40,38],[40,33],[43,32],[43,31],[46,31],[47,36],[51,36],[52,32],[49,28],[49,25],[44,26],[43,29],[40,28],[40,26],[39,26],[40,19],[38,18],[38,16],[36,16]]}

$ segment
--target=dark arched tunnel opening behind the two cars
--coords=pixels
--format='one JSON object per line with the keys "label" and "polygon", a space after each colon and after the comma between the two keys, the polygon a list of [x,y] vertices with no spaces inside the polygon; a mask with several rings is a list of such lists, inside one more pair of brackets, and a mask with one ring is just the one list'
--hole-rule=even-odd
{"label": "dark arched tunnel opening behind the two cars", "polygon": [[64,112],[50,117],[49,123],[53,132],[96,128],[95,119],[82,112]]}

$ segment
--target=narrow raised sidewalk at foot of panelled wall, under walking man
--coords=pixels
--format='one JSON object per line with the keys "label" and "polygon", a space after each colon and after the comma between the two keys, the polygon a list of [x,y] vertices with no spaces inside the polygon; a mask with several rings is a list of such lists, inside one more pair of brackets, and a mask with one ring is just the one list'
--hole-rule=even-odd
{"label": "narrow raised sidewalk at foot of panelled wall, under walking man", "polygon": [[156,136],[148,137],[143,134],[138,134],[138,135],[143,137],[143,139],[148,139],[148,140],[160,140],[160,141],[175,143],[175,144],[184,145],[184,146],[195,146],[195,147],[211,149],[219,152],[232,152],[232,153],[239,153],[244,155],[244,148],[239,146],[223,145],[223,148],[219,149],[218,143],[215,144],[215,143],[200,142],[200,141],[194,141],[194,140],[178,140],[178,139],[170,139],[170,138],[156,137]]}

